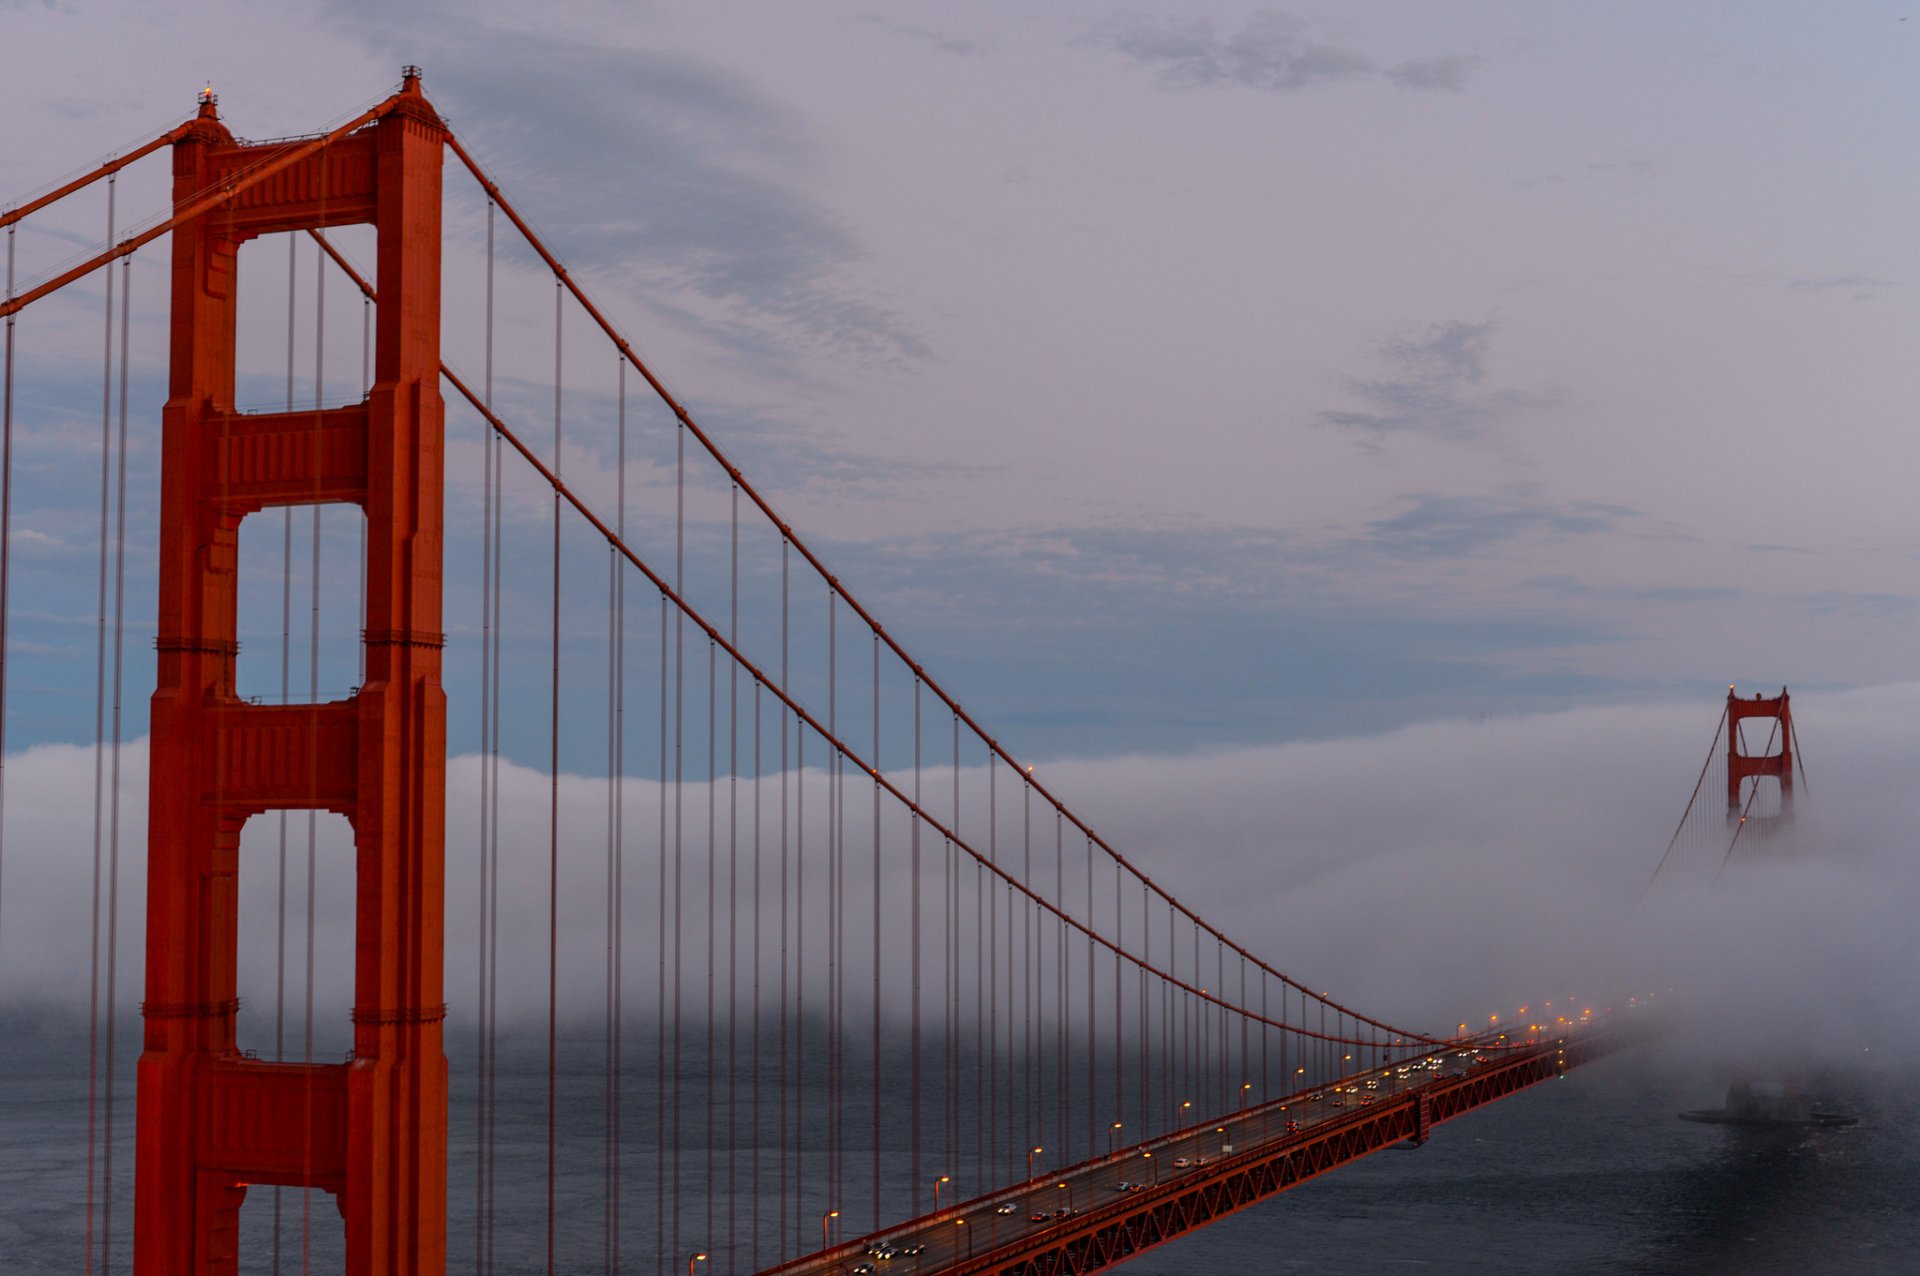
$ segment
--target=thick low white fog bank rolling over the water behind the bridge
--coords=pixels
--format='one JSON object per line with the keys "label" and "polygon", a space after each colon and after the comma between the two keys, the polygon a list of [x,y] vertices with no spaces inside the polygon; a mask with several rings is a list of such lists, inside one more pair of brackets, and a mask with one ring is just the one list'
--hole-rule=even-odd
{"label": "thick low white fog bank rolling over the water behind the bridge", "polygon": [[[1548,998],[1597,1004],[1651,990],[1678,1004],[1682,1021],[1699,1028],[1695,1040],[1711,1052],[1761,1052],[1788,1061],[1851,1057],[1868,1048],[1912,1053],[1920,1048],[1920,992],[1908,973],[1920,959],[1920,933],[1910,923],[1910,906],[1920,888],[1920,862],[1910,854],[1910,827],[1920,802],[1907,781],[1907,760],[1920,685],[1803,695],[1795,708],[1803,748],[1811,746],[1803,752],[1811,785],[1803,787],[1793,827],[1797,854],[1741,856],[1718,879],[1711,863],[1688,865],[1663,873],[1653,890],[1649,875],[1718,712],[1713,698],[1432,721],[1365,739],[1177,758],[1068,760],[1044,764],[1039,779],[1148,875],[1248,948],[1311,986],[1405,1027],[1450,1028]],[[0,1005],[86,1004],[92,766],[92,750],[84,746],[40,746],[8,758]],[[144,746],[131,746],[123,768],[119,1009],[131,1017],[142,965]],[[804,890],[789,883],[789,898],[808,900],[804,942],[818,944],[826,934],[820,856],[828,785],[818,769],[806,773],[806,783],[804,829],[814,840],[799,871],[810,877]],[[941,773],[929,791],[945,783]],[[1016,810],[1018,785],[1006,777],[1000,785],[1004,821]],[[718,950],[724,954],[733,942],[741,961],[751,961],[755,827],[762,846],[762,969],[774,969],[781,915],[776,898],[787,871],[776,858],[778,787],[778,777],[762,781],[758,825],[751,781],[722,779],[712,791],[705,783],[680,787],[685,917],[678,952],[684,986],[699,996],[707,986],[708,890],[720,919]],[[962,787],[972,804],[983,794],[981,773],[964,771]],[[852,959],[868,971],[876,927],[872,789],[852,775],[847,792],[841,817],[849,821],[843,831],[849,911],[839,925],[851,934]],[[672,871],[674,789],[626,781],[622,981],[630,1009],[641,1019],[666,982],[657,925],[668,913],[660,908],[662,794]],[[543,1019],[545,1011],[551,796],[547,777],[503,766],[497,996],[507,1025]],[[605,1005],[609,785],[605,777],[563,777],[559,802],[561,998],[570,1019],[593,1023]],[[476,996],[478,808],[478,760],[455,758],[447,994],[457,1023],[472,1021]],[[929,798],[929,808],[945,808],[945,798]],[[1035,848],[1023,846],[1010,825],[1002,823],[998,833],[1002,863],[1020,865],[1021,856],[1033,854],[1048,865],[1037,869],[1043,886],[1052,863],[1050,825],[1050,819],[1039,825],[1044,837]],[[801,827],[795,817],[789,833],[797,839]],[[981,837],[977,825],[973,837]],[[937,837],[922,833],[922,839],[924,888],[935,890],[945,852]],[[292,848],[290,915],[298,940],[305,908],[303,815],[292,821]],[[349,915],[338,860],[346,852],[344,823],[321,825],[319,850],[323,862],[336,860],[321,871],[319,931],[323,940],[332,934],[334,946],[321,948],[317,1005],[344,1021],[348,984],[340,944]],[[1069,850],[1081,854],[1083,844],[1069,839]],[[895,971],[904,965],[910,908],[904,817],[885,817],[881,856],[877,925],[885,940],[883,996],[891,998]],[[242,852],[246,908],[271,904],[275,863],[276,821],[257,819]],[[253,934],[271,934],[253,925]],[[929,919],[924,940],[929,946],[933,925]],[[271,1005],[273,963],[257,952],[253,957],[242,965],[242,996],[253,1007]],[[290,961],[296,967],[290,986],[298,988],[298,946]],[[741,988],[745,977],[751,967]],[[852,1004],[864,981],[858,973],[851,979]],[[720,988],[726,986],[722,973]],[[252,1042],[259,1046],[267,1011],[253,1015]]]}

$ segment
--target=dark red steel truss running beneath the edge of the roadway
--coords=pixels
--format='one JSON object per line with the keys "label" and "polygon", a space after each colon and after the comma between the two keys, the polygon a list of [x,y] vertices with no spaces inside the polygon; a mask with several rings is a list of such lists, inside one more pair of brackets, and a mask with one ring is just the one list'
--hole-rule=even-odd
{"label": "dark red steel truss running beneath the edge of the roadway", "polygon": [[1609,1027],[1501,1055],[1463,1076],[1428,1082],[1413,1094],[1380,1099],[1275,1144],[1223,1157],[1177,1182],[1083,1211],[1035,1236],[941,1268],[941,1276],[1085,1276],[1116,1266],[1382,1147],[1425,1142],[1432,1126],[1561,1076],[1636,1036]]}

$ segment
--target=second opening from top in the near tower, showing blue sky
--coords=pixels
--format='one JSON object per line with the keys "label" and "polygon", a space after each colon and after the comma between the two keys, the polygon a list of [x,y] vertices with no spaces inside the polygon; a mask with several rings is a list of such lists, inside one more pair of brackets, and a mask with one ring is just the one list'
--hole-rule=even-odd
{"label": "second opening from top in the near tower, showing blue sky", "polygon": [[359,687],[365,562],[357,505],[267,508],[240,524],[240,698],[324,704]]}

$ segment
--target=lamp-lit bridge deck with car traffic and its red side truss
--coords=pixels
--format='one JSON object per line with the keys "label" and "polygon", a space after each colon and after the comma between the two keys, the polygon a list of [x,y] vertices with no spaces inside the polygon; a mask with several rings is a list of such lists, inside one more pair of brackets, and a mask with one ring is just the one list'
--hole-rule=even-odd
{"label": "lamp-lit bridge deck with car traffic and its red side truss", "polygon": [[[1628,1042],[1611,1019],[1496,1032],[1356,1073],[795,1259],[764,1276],[1066,1276],[1102,1270]],[[1144,1184],[1121,1188],[1121,1184]],[[910,1247],[924,1247],[908,1253]],[[891,1257],[887,1257],[891,1253]]]}

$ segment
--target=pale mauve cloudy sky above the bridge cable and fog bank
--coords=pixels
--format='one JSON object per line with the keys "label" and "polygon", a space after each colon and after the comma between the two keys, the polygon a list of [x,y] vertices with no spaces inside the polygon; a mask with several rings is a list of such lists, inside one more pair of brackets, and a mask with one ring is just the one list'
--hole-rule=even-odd
{"label": "pale mauve cloudy sky above the bridge cable and fog bank", "polygon": [[1899,6],[0,23],[8,200],[209,81],[276,136],[420,63],[695,414],[1029,750],[1912,675]]}

